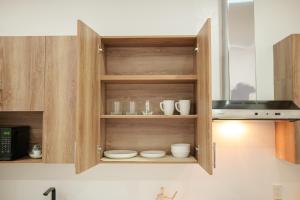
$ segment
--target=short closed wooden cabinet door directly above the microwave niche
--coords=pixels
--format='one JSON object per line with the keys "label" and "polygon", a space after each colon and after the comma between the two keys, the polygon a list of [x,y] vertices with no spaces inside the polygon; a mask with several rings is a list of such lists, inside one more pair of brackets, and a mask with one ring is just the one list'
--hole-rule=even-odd
{"label": "short closed wooden cabinet door directly above the microwave niche", "polygon": [[2,111],[43,111],[45,37],[0,37]]}

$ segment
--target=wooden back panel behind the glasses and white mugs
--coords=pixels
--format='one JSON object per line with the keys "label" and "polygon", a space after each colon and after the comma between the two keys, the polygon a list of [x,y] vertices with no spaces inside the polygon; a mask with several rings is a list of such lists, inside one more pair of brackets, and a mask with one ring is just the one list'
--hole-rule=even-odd
{"label": "wooden back panel behind the glasses and white mugs", "polygon": [[[146,100],[150,101],[153,114],[160,115],[159,103],[163,100],[191,100],[191,114],[195,114],[194,84],[106,84],[106,114],[112,112],[113,101],[122,103],[122,111],[126,113],[129,101],[136,102],[136,111],[141,114],[145,110]],[[177,113],[176,111],[174,112]],[[178,113],[177,113],[178,114]]]}

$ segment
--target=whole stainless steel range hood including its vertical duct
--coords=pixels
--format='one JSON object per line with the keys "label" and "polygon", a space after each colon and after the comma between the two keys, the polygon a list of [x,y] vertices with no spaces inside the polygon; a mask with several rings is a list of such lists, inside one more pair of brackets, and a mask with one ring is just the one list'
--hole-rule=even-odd
{"label": "whole stainless steel range hood including its vertical duct", "polygon": [[254,0],[222,0],[222,91],[213,119],[298,120],[292,101],[257,101]]}

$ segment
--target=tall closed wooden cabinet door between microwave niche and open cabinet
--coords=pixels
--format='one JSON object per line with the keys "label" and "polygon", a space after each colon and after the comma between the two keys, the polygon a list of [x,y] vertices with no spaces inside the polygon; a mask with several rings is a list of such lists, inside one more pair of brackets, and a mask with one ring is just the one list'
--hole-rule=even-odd
{"label": "tall closed wooden cabinet door between microwave niche and open cabinet", "polygon": [[73,163],[76,131],[77,37],[46,37],[43,146],[46,163]]}

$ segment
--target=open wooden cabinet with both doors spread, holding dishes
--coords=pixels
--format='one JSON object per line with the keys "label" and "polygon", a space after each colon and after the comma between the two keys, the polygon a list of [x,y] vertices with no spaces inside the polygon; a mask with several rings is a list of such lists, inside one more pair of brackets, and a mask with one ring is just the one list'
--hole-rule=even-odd
{"label": "open wooden cabinet with both doors spread, holding dishes", "polygon": [[[208,20],[197,36],[101,37],[78,21],[76,172],[98,163],[199,163],[212,174],[211,35]],[[165,116],[163,99],[192,100],[189,116]],[[111,115],[112,102],[137,103],[139,115]],[[146,100],[154,115],[143,116]],[[175,159],[103,157],[107,149],[162,149],[190,143]]]}

